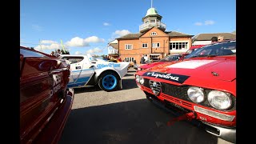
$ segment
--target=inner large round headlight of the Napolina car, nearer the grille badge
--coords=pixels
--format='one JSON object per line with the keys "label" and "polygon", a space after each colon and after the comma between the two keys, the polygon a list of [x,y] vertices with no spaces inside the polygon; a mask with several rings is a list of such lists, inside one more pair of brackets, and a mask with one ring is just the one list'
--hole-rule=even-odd
{"label": "inner large round headlight of the Napolina car, nearer the grille badge", "polygon": [[192,102],[202,102],[205,99],[202,89],[195,86],[191,86],[189,90],[187,90],[187,95]]}

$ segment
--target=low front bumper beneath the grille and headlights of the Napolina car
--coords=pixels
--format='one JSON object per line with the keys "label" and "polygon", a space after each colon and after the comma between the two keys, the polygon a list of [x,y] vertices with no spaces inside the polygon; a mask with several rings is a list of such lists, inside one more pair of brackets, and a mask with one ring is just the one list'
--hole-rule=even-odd
{"label": "low front bumper beneath the grille and headlights of the Napolina car", "polygon": [[[169,112],[171,112],[176,116],[181,116],[182,114],[191,112],[191,110],[187,110],[182,107],[169,105],[170,104],[169,102],[162,102],[156,96],[154,96],[153,94],[149,94],[146,91],[144,91],[144,93],[146,94],[146,98],[150,99],[150,101],[152,101],[154,104],[157,104],[158,106],[162,107],[165,110],[168,110]],[[210,134],[214,134],[218,138],[222,138],[228,142],[233,142],[233,143],[236,142],[235,127],[228,128],[228,127],[216,126],[208,122],[198,121],[197,119],[193,119],[190,123],[202,130],[206,130],[206,132]]]}

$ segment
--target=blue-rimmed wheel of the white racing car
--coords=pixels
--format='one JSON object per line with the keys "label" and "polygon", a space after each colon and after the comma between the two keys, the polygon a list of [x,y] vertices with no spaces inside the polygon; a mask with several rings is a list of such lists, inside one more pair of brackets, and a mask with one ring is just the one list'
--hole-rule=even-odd
{"label": "blue-rimmed wheel of the white racing car", "polygon": [[98,81],[98,86],[105,91],[119,90],[120,80],[118,74],[111,71],[106,71],[103,73]]}

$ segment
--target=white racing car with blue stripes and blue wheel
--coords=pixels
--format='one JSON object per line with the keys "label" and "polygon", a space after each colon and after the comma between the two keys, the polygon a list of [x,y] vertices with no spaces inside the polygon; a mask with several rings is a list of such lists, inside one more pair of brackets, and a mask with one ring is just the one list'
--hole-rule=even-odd
{"label": "white racing car with blue stripes and blue wheel", "polygon": [[70,61],[69,88],[98,86],[105,91],[122,90],[122,77],[126,75],[129,62],[106,62],[86,55],[62,54],[60,58]]}

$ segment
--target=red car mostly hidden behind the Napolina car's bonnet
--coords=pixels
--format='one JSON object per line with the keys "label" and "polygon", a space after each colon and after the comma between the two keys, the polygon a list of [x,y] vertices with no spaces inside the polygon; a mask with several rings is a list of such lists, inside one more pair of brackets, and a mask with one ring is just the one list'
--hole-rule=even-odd
{"label": "red car mostly hidden behind the Napolina car's bonnet", "polygon": [[160,65],[162,63],[165,63],[165,62],[178,61],[180,58],[182,58],[182,54],[168,55],[166,58],[162,58],[158,62],[150,62],[150,63],[144,64],[144,65],[138,66],[138,71],[139,70],[145,70],[145,69],[148,69],[148,68],[153,67],[153,66],[158,66],[158,65]]}

